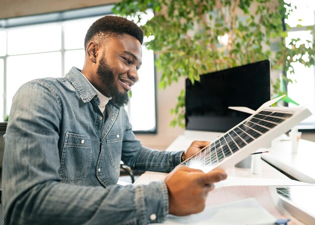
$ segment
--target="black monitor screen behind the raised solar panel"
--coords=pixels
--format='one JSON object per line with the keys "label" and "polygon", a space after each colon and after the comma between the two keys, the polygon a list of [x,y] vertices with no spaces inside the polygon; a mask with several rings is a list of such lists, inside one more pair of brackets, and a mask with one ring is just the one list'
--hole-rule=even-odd
{"label": "black monitor screen behind the raised solar panel", "polygon": [[226,132],[249,117],[229,106],[257,110],[269,100],[269,60],[206,73],[194,85],[186,79],[186,129]]}

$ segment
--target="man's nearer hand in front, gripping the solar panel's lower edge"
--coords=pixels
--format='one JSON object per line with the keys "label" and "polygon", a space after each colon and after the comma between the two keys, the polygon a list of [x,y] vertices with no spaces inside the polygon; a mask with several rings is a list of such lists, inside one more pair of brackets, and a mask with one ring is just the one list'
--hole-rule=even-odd
{"label": "man's nearer hand in front, gripping the solar panel's lower edge", "polygon": [[214,188],[214,182],[226,179],[224,170],[204,173],[188,167],[176,167],[166,178],[169,191],[169,213],[189,215],[201,212],[205,207],[207,193]]}

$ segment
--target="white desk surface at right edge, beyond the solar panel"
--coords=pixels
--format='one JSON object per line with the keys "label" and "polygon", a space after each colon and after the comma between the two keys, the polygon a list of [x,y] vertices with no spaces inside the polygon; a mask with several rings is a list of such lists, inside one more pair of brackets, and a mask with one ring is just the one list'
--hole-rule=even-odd
{"label": "white desk surface at right edge, beyond the solar panel", "polygon": [[315,184],[315,142],[300,139],[297,153],[291,140],[275,139],[262,159],[299,181]]}

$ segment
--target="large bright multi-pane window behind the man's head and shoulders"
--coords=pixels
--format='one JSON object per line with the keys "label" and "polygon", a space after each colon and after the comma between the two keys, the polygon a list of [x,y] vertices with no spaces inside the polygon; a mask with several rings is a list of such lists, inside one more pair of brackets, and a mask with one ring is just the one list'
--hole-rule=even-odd
{"label": "large bright multi-pane window behind the man's head and shoulders", "polygon": [[[63,77],[72,66],[82,69],[86,32],[110,10],[103,6],[1,21],[6,27],[0,28],[0,79],[4,84],[0,87],[0,121],[10,114],[12,98],[24,83]],[[132,97],[125,108],[135,132],[156,132],[154,57],[144,46],[138,72],[139,82],[132,87]]]}

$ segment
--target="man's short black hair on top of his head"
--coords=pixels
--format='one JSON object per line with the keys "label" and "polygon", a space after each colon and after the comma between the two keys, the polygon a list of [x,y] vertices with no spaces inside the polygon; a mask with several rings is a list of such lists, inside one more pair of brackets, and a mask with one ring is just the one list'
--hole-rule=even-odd
{"label": "man's short black hair on top of his head", "polygon": [[105,16],[91,25],[86,34],[84,46],[86,48],[89,41],[98,35],[115,36],[123,34],[135,37],[141,44],[143,42],[143,31],[138,25],[123,17]]}

